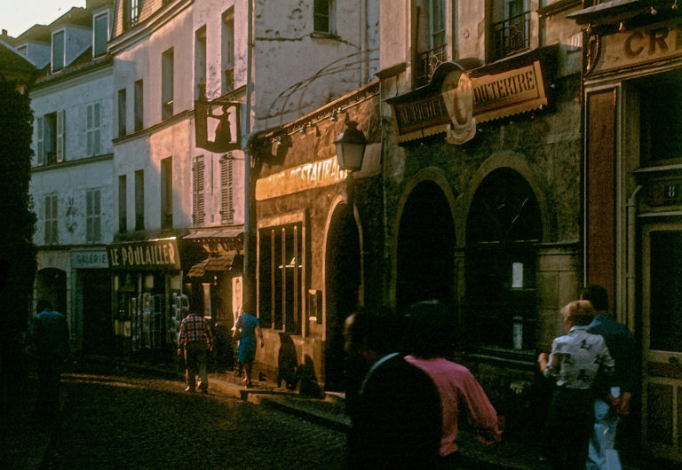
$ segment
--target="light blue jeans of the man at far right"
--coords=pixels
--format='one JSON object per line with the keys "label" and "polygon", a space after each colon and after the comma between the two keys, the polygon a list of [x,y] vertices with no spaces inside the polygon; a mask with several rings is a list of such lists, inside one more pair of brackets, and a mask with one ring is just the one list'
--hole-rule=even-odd
{"label": "light blue jeans of the man at far right", "polygon": [[618,415],[604,400],[594,401],[594,428],[587,457],[588,470],[621,470],[618,451],[614,449]]}

